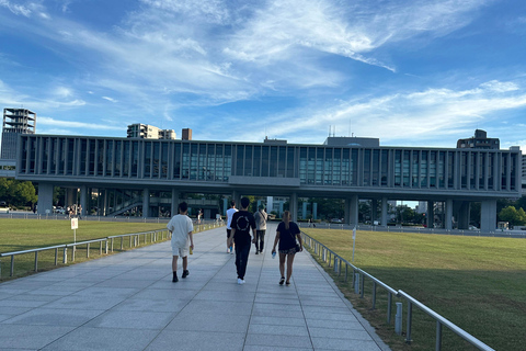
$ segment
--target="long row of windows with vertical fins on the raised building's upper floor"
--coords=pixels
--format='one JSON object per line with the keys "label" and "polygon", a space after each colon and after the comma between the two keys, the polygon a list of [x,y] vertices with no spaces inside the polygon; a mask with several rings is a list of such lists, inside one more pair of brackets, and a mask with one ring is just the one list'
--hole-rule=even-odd
{"label": "long row of windows with vertical fins on the raised building's upper floor", "polygon": [[230,176],[299,178],[307,185],[517,189],[519,154],[137,140],[26,135],[22,174],[228,182]]}

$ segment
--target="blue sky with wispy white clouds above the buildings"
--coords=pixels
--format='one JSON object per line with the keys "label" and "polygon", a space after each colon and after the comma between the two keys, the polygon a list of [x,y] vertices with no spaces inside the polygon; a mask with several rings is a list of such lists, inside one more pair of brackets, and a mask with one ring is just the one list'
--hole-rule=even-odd
{"label": "blue sky with wispy white clouds above the buildings", "polygon": [[0,106],[45,134],[525,150],[526,1],[0,0]]}

